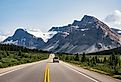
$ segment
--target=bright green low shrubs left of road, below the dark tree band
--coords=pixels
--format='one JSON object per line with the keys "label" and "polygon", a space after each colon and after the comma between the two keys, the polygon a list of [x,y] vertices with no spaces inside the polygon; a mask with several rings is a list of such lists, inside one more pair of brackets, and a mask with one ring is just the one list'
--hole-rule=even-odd
{"label": "bright green low shrubs left of road, below the dark tree band", "polygon": [[49,53],[42,52],[0,51],[0,68],[40,61],[48,56]]}

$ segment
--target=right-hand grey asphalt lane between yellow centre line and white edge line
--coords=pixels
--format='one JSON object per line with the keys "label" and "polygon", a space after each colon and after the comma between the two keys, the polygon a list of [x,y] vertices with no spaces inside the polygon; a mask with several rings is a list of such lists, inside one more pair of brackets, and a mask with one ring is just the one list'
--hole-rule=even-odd
{"label": "right-hand grey asphalt lane between yellow centre line and white edge line", "polygon": [[51,82],[95,82],[62,64],[50,65]]}

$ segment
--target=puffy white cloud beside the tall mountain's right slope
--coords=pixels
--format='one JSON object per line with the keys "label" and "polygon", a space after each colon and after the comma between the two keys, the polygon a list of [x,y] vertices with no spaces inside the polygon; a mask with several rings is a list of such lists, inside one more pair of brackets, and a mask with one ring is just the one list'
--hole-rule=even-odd
{"label": "puffy white cloud beside the tall mountain's right slope", "polygon": [[115,10],[112,14],[106,16],[104,21],[108,23],[111,28],[121,29],[121,11]]}

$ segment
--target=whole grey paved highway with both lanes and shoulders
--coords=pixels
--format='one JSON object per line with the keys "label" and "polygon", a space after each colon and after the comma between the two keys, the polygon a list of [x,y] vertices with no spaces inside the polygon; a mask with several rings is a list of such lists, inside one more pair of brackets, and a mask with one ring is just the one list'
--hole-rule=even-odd
{"label": "whole grey paved highway with both lanes and shoulders", "polygon": [[[49,73],[48,82],[121,82],[121,80],[108,76],[98,75],[98,73],[83,71],[90,73],[87,75],[81,69],[72,65],[69,66],[62,61],[60,63],[52,63],[51,61],[50,57],[48,60],[43,60],[37,64],[2,74],[0,75],[0,82],[45,82],[46,73]],[[48,72],[46,72],[47,68],[49,69]],[[90,76],[91,74],[92,76]],[[97,78],[94,78],[93,75]]]}

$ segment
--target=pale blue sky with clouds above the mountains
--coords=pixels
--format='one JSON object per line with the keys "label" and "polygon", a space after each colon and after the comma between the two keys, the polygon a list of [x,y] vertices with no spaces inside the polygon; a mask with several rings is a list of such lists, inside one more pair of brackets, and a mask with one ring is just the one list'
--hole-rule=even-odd
{"label": "pale blue sky with clouds above the mountains", "polygon": [[121,0],[0,0],[0,35],[12,35],[21,27],[47,32],[84,15],[121,29]]}

